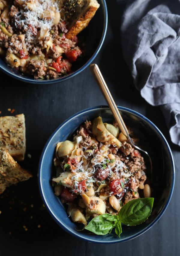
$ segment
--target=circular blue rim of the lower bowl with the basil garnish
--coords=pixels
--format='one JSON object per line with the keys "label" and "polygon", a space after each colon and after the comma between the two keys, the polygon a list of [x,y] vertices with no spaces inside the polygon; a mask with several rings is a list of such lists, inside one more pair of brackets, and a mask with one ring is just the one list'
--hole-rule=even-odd
{"label": "circular blue rim of the lower bowl with the basil garnish", "polygon": [[51,134],[51,136],[48,138],[43,150],[42,150],[42,153],[41,153],[41,157],[40,157],[40,160],[39,160],[39,166],[38,166],[38,186],[39,186],[39,191],[40,191],[40,194],[41,194],[41,198],[46,206],[46,209],[48,210],[49,214],[51,215],[51,217],[55,220],[55,222],[62,228],[64,229],[66,232],[68,232],[70,235],[73,235],[75,236],[76,238],[79,238],[79,239],[83,239],[87,242],[93,242],[93,243],[98,243],[98,244],[113,244],[113,243],[119,243],[119,242],[126,242],[126,241],[129,241],[135,237],[138,237],[139,235],[143,234],[144,232],[146,232],[148,229],[150,229],[152,226],[155,225],[155,223],[157,223],[157,221],[161,218],[161,216],[164,214],[165,210],[167,209],[167,206],[168,204],[170,203],[170,199],[172,197],[172,194],[173,194],[173,189],[174,189],[174,183],[175,183],[175,166],[174,166],[174,160],[173,160],[173,154],[172,154],[172,151],[170,149],[170,146],[166,140],[166,138],[164,137],[164,135],[162,134],[162,132],[159,130],[159,128],[153,124],[148,118],[146,118],[144,115],[132,110],[132,109],[128,109],[128,108],[125,108],[125,107],[122,107],[122,106],[117,106],[117,108],[119,110],[123,110],[125,112],[130,112],[131,114],[134,114],[134,115],[137,115],[138,117],[142,118],[143,120],[145,120],[146,122],[148,122],[157,132],[158,134],[160,135],[160,137],[162,138],[162,140],[164,141],[166,147],[167,147],[167,150],[168,150],[168,153],[169,153],[169,156],[170,156],[170,160],[171,160],[171,166],[172,166],[172,182],[171,182],[171,189],[170,189],[170,193],[169,193],[169,196],[167,198],[167,202],[166,204],[164,205],[164,207],[161,209],[161,212],[159,213],[159,215],[156,217],[156,219],[154,221],[152,221],[152,223],[149,223],[149,225],[142,229],[141,231],[139,231],[137,234],[135,235],[130,235],[130,237],[128,238],[124,238],[124,239],[121,239],[119,240],[118,236],[117,236],[117,239],[113,239],[113,241],[107,241],[107,240],[104,240],[104,241],[97,241],[96,240],[96,236],[94,237],[94,239],[88,239],[86,237],[86,235],[83,235],[81,233],[81,235],[79,235],[79,233],[75,233],[75,232],[71,232],[63,223],[61,223],[61,221],[59,221],[55,214],[52,213],[52,211],[50,210],[49,206],[46,204],[46,199],[44,197],[44,193],[43,193],[43,190],[42,190],[42,187],[41,187],[41,165],[42,165],[42,162],[43,162],[43,159],[44,159],[44,153],[46,152],[46,149],[49,145],[49,143],[51,142],[51,139],[54,137],[54,135],[59,131],[59,129],[65,125],[70,119],[73,119],[74,117],[77,117],[78,115],[81,115],[82,113],[86,113],[90,110],[95,110],[95,109],[109,109],[108,106],[106,105],[100,105],[100,106],[94,106],[94,107],[90,107],[90,108],[86,108],[86,109],[83,109],[83,110],[80,110],[79,112],[71,115],[69,118],[67,118],[64,122],[62,122],[58,128],[55,129],[55,131]]}

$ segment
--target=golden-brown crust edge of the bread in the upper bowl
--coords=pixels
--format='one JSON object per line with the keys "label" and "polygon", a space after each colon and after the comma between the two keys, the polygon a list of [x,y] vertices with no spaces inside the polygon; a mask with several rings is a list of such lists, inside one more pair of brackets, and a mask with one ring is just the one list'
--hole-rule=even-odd
{"label": "golden-brown crust edge of the bread in the upper bowl", "polygon": [[[83,1],[82,1],[83,2]],[[71,23],[68,32],[66,33],[67,39],[73,39],[79,32],[81,32],[85,27],[88,26],[89,21],[95,15],[95,12],[99,8],[99,4],[96,0],[85,1],[84,6],[81,8],[81,12]]]}

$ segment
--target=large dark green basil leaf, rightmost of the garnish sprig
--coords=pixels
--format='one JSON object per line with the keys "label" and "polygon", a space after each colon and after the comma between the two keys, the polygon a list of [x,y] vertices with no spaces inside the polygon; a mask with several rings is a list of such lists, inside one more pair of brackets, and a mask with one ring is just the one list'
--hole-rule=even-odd
{"label": "large dark green basil leaf, rightmost of the garnish sprig", "polygon": [[143,223],[150,216],[154,198],[138,198],[126,203],[119,211],[121,223],[136,226]]}

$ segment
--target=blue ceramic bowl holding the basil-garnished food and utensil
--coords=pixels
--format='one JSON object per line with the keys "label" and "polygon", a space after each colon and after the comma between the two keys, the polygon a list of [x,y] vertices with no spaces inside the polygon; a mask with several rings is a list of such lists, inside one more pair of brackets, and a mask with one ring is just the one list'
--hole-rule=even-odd
{"label": "blue ceramic bowl holding the basil-garnished food and utensil", "polygon": [[51,186],[54,173],[52,159],[56,144],[59,141],[65,141],[71,137],[74,131],[76,131],[79,125],[85,120],[92,120],[97,116],[101,116],[103,121],[112,122],[113,116],[107,106],[96,106],[82,110],[64,121],[47,141],[39,162],[39,189],[50,215],[65,231],[88,242],[104,244],[125,242],[143,234],[161,218],[173,193],[175,180],[174,162],[165,137],[161,131],[143,115],[123,107],[118,107],[118,109],[125,123],[134,128],[141,142],[146,145],[146,150],[151,156],[152,166],[154,167],[152,173],[153,182],[151,184],[154,189],[152,193],[152,197],[155,198],[154,206],[146,222],[138,226],[122,226],[120,238],[118,238],[115,233],[95,235],[87,230],[78,231],[78,226],[70,220],[64,206],[61,204],[59,198],[55,196],[54,189]]}

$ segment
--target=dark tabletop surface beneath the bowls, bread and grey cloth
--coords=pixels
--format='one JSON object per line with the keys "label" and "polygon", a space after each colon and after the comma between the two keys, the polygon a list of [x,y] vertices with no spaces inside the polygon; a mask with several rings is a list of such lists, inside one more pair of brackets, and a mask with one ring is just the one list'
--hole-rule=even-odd
{"label": "dark tabletop surface beneath the bowls, bread and grey cloth", "polygon": [[[88,68],[70,80],[52,85],[27,84],[0,72],[0,115],[24,113],[27,149],[20,164],[33,173],[32,179],[13,185],[0,195],[0,256],[179,255],[180,148],[171,143],[159,107],[150,106],[135,89],[122,58],[119,28],[124,4],[113,1],[112,5],[107,0],[107,8],[107,35],[94,62],[99,65],[116,104],[145,115],[170,144],[176,168],[170,204],[158,223],[128,242],[98,245],[66,233],[42,207],[37,181],[41,151],[55,128],[70,115],[106,102]],[[10,114],[9,108],[15,112]]]}

